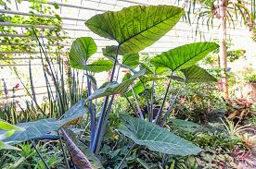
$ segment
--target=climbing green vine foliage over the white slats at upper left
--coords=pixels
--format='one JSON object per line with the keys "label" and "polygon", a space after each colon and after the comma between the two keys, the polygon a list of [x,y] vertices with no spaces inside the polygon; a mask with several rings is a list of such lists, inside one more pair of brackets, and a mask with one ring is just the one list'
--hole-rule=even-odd
{"label": "climbing green vine foliage over the white slats at upper left", "polygon": [[[9,8],[11,6],[9,1],[6,1],[6,3],[0,3],[0,6],[5,6],[4,8]],[[42,30],[41,33],[43,33],[45,36],[58,36],[57,39],[48,39],[49,44],[55,44],[63,41],[65,38],[62,38],[59,36],[59,34],[65,34],[65,31],[61,30],[61,23],[62,20],[59,18],[55,10],[49,6],[42,6],[41,2],[37,1],[30,1],[29,4],[29,12],[32,14],[32,16],[19,16],[19,15],[7,15],[7,14],[1,14],[0,20],[1,22],[10,22],[14,24],[28,24],[31,25],[30,27],[23,28],[22,34],[27,35],[27,37],[3,37],[1,38],[0,42],[5,43],[5,45],[0,46],[1,51],[24,51],[24,52],[34,52],[37,49],[37,45],[27,45],[27,43],[35,42],[36,40],[32,38],[33,36],[33,30],[32,27],[34,25],[55,25],[55,28],[53,29],[45,29]],[[36,17],[33,15],[34,13],[41,13],[41,14],[48,14],[48,15],[55,15],[56,18],[43,18],[43,17]],[[19,30],[14,27],[9,26],[2,26],[0,27],[1,33],[6,34],[18,34]],[[39,32],[36,30],[36,32]],[[19,44],[19,45],[17,45]],[[51,45],[46,45],[47,49],[53,49]],[[59,45],[59,48],[62,48],[63,46]],[[11,56],[11,54],[7,54],[7,57]],[[6,55],[1,55],[1,57],[5,58]]]}

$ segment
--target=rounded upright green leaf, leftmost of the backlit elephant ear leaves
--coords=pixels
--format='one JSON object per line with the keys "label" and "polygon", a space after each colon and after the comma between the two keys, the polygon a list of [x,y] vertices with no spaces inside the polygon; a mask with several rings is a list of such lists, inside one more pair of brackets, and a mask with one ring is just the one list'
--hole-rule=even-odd
{"label": "rounded upright green leaf, leftmost of the backlit elephant ear leaves", "polygon": [[90,37],[77,38],[70,48],[70,66],[85,69],[84,61],[96,53],[96,43]]}

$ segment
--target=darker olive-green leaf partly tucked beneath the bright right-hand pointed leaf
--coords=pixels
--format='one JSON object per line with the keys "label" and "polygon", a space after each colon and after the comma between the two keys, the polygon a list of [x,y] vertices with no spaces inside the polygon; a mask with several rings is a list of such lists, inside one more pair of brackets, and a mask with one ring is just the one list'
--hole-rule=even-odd
{"label": "darker olive-green leaf partly tucked beneath the bright right-hand pointed leaf", "polygon": [[181,70],[185,77],[186,82],[216,82],[217,79],[212,77],[205,69],[199,66],[190,66],[186,69]]}

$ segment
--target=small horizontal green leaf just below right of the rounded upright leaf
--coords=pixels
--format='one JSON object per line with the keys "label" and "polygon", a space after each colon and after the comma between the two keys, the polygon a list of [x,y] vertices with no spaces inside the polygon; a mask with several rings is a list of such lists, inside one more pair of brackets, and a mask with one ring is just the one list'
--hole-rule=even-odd
{"label": "small horizontal green leaf just below right of the rounded upright leaf", "polygon": [[109,71],[112,67],[113,67],[112,61],[99,59],[88,65],[88,71],[99,73],[99,72]]}

